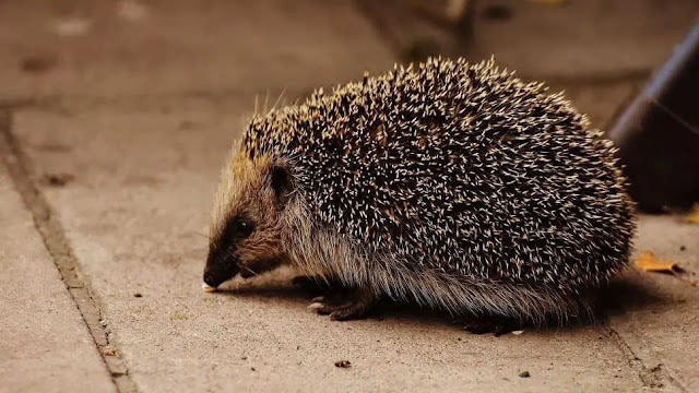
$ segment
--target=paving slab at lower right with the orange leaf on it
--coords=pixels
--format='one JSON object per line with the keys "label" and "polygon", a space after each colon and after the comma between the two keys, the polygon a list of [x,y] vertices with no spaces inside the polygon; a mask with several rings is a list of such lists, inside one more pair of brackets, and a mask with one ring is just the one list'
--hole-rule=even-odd
{"label": "paving slab at lower right with the orange leaf on it", "polygon": [[686,392],[699,391],[699,225],[683,216],[642,216],[637,254],[652,251],[678,263],[687,281],[629,272],[611,326],[649,369],[665,370]]}

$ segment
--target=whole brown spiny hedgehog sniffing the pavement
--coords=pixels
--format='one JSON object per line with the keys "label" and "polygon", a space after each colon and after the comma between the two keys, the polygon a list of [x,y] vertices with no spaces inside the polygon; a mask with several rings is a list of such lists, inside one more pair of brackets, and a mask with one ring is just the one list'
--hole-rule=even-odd
{"label": "whole brown spiny hedgehog sniffing the pavement", "polygon": [[616,153],[562,93],[493,58],[365,73],[251,118],[221,176],[202,286],[289,265],[323,283],[310,308],[334,320],[380,298],[476,333],[589,315],[632,247]]}

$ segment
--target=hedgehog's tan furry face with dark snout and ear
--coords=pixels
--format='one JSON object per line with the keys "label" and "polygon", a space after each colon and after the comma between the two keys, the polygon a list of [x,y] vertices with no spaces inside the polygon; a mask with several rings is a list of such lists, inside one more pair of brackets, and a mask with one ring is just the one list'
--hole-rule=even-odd
{"label": "hedgehog's tan furry face with dark snout and ear", "polygon": [[285,165],[237,155],[224,170],[216,198],[204,284],[248,278],[284,261],[279,221],[292,189]]}

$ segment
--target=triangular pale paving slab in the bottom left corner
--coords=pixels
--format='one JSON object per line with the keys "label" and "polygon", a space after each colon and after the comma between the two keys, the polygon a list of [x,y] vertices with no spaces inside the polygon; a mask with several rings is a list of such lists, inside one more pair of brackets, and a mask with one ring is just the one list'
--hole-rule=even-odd
{"label": "triangular pale paving slab in the bottom left corner", "polygon": [[2,164],[0,206],[0,392],[116,391]]}

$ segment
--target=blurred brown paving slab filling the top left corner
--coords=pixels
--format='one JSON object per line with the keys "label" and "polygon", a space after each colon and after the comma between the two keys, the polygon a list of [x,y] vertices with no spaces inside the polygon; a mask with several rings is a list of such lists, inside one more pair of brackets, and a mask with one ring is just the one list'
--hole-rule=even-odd
{"label": "blurred brown paving slab filling the top left corner", "polygon": [[309,74],[334,84],[392,63],[352,1],[0,2],[0,100],[244,91],[262,102],[308,87]]}

